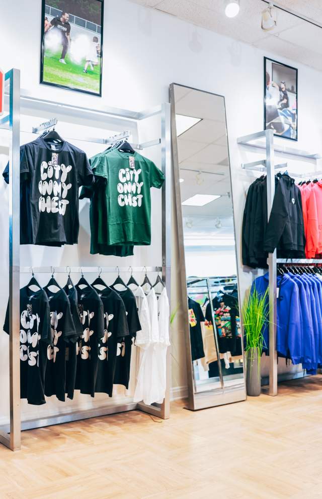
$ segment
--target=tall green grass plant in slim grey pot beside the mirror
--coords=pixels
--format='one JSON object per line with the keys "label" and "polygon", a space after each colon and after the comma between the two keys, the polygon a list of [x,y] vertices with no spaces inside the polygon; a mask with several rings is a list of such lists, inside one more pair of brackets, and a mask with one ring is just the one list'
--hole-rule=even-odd
{"label": "tall green grass plant in slim grey pot beside the mirror", "polygon": [[259,294],[256,289],[249,294],[243,307],[246,389],[247,395],[261,394],[261,356],[263,352],[263,327],[268,320],[268,289]]}

